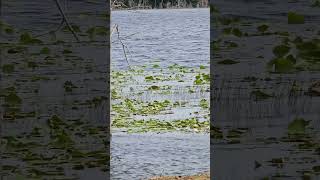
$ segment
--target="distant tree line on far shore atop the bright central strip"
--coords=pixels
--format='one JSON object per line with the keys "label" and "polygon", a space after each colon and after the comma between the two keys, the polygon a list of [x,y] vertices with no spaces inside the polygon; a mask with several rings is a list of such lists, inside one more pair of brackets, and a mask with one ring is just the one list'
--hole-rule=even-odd
{"label": "distant tree line on far shore atop the bright central strip", "polygon": [[208,0],[112,0],[113,9],[207,7]]}

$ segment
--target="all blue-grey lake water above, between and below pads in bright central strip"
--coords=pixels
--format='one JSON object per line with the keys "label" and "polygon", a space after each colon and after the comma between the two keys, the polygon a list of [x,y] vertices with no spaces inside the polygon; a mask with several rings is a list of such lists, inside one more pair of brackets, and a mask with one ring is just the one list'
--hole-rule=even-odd
{"label": "all blue-grey lake water above, between and below pads in bright central strip", "polygon": [[[130,65],[146,65],[147,74],[166,72],[166,67],[179,64],[209,73],[209,9],[113,11],[112,26],[119,26],[120,37],[128,47]],[[117,34],[112,36],[112,70],[128,68]],[[160,67],[152,68],[152,64]],[[162,73],[162,72],[160,72]],[[188,76],[191,76],[190,78]],[[164,81],[156,85],[169,85],[170,94],[146,91],[150,84],[127,82],[121,91],[125,98],[144,102],[154,100],[187,101],[187,107],[173,113],[139,118],[176,120],[194,116],[200,111],[200,99],[209,98],[209,92],[188,93],[194,75],[186,74],[184,82]],[[208,88],[207,85],[203,86]],[[130,88],[134,89],[130,92]],[[201,87],[198,87],[201,88]],[[139,92],[143,93],[142,95]],[[139,95],[137,95],[139,94]],[[208,113],[208,110],[204,112]],[[200,113],[201,114],[201,113]],[[147,179],[161,175],[191,175],[210,168],[210,141],[208,133],[141,133],[127,134],[115,130],[111,141],[111,179]]]}

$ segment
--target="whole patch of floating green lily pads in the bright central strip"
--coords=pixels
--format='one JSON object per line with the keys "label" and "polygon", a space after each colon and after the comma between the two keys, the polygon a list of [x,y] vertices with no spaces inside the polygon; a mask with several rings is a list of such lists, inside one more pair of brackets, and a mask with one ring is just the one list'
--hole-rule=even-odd
{"label": "whole patch of floating green lily pads in the bright central strip", "polygon": [[[154,65],[154,64],[153,64]],[[151,66],[153,66],[151,64]],[[149,65],[150,66],[150,65]],[[140,66],[141,68],[147,68],[149,66]],[[157,67],[155,67],[157,68]],[[137,69],[137,68],[134,68]],[[143,69],[142,69],[143,70]],[[169,70],[169,71],[168,71]],[[113,88],[116,89],[117,94],[114,92],[114,96],[118,96],[119,98],[116,101],[112,102],[112,128],[124,128],[127,132],[147,132],[147,131],[163,131],[163,130],[172,130],[179,131],[179,126],[176,122],[175,125],[169,125],[170,122],[162,121],[162,120],[154,120],[157,116],[171,116],[174,114],[175,109],[179,109],[182,107],[188,107],[188,102],[170,102],[169,100],[153,100],[153,101],[143,101],[140,100],[139,97],[141,95],[149,94],[148,91],[153,91],[152,94],[163,95],[168,94],[172,95],[175,93],[175,83],[190,81],[192,77],[195,75],[194,85],[189,85],[186,87],[188,90],[195,92],[195,88],[201,88],[201,85],[206,85],[210,83],[210,76],[207,73],[208,67],[201,65],[199,69],[192,69],[188,67],[184,67],[178,64],[173,64],[168,66],[168,70],[166,69],[165,73],[157,74],[150,73],[149,71],[146,73],[136,72],[133,70],[128,71],[113,71],[112,72],[112,85]],[[158,71],[157,71],[158,72]],[[135,80],[135,83],[143,83],[140,87],[138,84],[139,92],[134,92],[131,88],[131,80]],[[158,81],[164,82],[163,84],[151,84]],[[168,81],[168,82],[165,82]],[[147,83],[145,83],[147,82]],[[135,84],[134,83],[134,84]],[[173,83],[173,84],[172,84]],[[129,86],[128,86],[129,85]],[[197,86],[195,86],[197,85]],[[199,85],[199,86],[198,86]],[[207,86],[205,86],[207,87]],[[122,90],[123,88],[123,90]],[[178,88],[179,89],[179,88]],[[128,92],[128,91],[129,92]],[[201,88],[201,92],[208,91],[208,89]],[[129,93],[134,94],[132,98],[126,98],[126,96],[121,96],[121,94]],[[183,92],[185,93],[185,92]],[[128,95],[128,94],[126,94]],[[138,98],[137,98],[138,96]],[[201,101],[201,110],[200,112],[196,112],[201,115],[202,112],[207,113],[209,104],[205,102],[206,100]],[[195,105],[196,107],[197,105]],[[193,107],[193,106],[192,106]],[[156,116],[156,117],[153,117]],[[198,115],[197,115],[198,116]],[[141,118],[146,117],[145,120],[140,120]],[[207,117],[203,116],[203,118],[207,119]],[[150,121],[148,119],[151,119]],[[154,121],[159,121],[155,127],[152,127],[152,123]],[[142,122],[143,121],[143,122]],[[185,122],[186,123],[186,122]],[[151,127],[150,127],[151,126]],[[181,126],[183,126],[181,120]],[[197,127],[197,125],[195,125]],[[209,129],[207,127],[207,129]],[[182,131],[200,131],[197,128],[185,127],[180,129]],[[201,130],[202,132],[202,130]]]}

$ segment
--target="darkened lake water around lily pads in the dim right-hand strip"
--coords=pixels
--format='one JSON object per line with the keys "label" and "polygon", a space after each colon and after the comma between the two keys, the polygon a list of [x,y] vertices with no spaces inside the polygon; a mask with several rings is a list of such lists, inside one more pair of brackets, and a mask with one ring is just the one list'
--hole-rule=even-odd
{"label": "darkened lake water around lily pads in the dim right-hand strip", "polygon": [[[270,73],[267,68],[267,63],[275,58],[273,48],[287,39],[290,41],[290,54],[303,62],[303,58],[295,52],[297,50],[292,40],[300,37],[308,42],[319,38],[319,7],[313,7],[312,2],[212,2],[224,17],[239,20],[231,25],[212,26],[211,29],[211,39],[221,41],[220,49],[211,51],[213,125],[225,133],[237,128],[250,130],[236,143],[212,139],[214,154],[211,167],[216,179],[300,179],[304,172],[312,171],[312,167],[319,163],[319,156],[313,148],[303,147],[296,139],[297,142],[286,141],[289,125],[296,118],[303,118],[310,121],[306,128],[310,139],[306,141],[319,142],[320,98],[308,95],[310,84],[320,79],[319,66],[314,63],[309,70],[305,68],[295,73],[274,73],[274,70]],[[288,24],[288,12],[303,15],[305,23]],[[213,18],[212,14],[212,25],[215,24]],[[257,28],[262,24],[269,27],[269,35],[258,32]],[[246,35],[226,35],[223,29],[228,27],[238,28]],[[230,42],[236,46],[228,47]],[[225,59],[238,63],[218,63]],[[296,91],[294,85],[299,86],[300,90]],[[253,96],[256,90],[273,97],[256,100]],[[270,163],[277,158],[285,159],[283,165]],[[259,162],[261,167],[255,168],[255,162]],[[314,173],[310,179],[319,179],[319,176]]]}

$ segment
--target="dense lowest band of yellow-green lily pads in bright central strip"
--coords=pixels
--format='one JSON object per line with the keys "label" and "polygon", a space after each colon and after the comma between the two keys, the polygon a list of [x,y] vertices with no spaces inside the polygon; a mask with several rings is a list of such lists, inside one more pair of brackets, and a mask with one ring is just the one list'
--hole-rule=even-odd
{"label": "dense lowest band of yellow-green lily pads in bright central strip", "polygon": [[112,123],[113,127],[129,128],[128,132],[149,132],[149,131],[207,131],[209,128],[208,121],[199,121],[196,118],[161,121],[161,120],[134,120],[127,121],[116,119]]}

